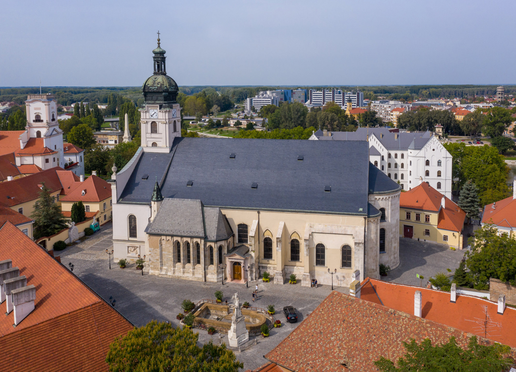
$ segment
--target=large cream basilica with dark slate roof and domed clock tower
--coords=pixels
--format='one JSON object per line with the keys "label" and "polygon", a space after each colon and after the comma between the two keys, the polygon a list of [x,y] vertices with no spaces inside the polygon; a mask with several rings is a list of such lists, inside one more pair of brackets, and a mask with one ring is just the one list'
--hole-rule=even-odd
{"label": "large cream basilica with dark slate roof and domed clock tower", "polygon": [[112,175],[115,260],[152,275],[349,286],[399,264],[401,187],[367,141],[181,137],[165,50],[142,91],[141,146]]}

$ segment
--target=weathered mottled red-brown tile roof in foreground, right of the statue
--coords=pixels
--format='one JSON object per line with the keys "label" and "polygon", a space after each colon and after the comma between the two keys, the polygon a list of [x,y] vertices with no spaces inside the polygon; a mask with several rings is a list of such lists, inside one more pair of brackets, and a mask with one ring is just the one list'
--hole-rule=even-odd
{"label": "weathered mottled red-brown tile roof in foreground, right of the statue", "polygon": [[404,356],[402,342],[412,338],[442,344],[454,336],[467,347],[471,334],[412,314],[413,305],[405,313],[334,291],[265,358],[296,372],[369,372],[377,370],[374,362],[382,356],[394,361]]}

